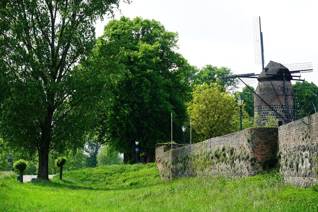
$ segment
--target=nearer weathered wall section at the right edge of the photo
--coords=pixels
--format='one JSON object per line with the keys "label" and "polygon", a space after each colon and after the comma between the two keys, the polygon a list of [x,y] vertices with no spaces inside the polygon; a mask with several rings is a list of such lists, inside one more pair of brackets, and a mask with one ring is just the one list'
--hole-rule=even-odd
{"label": "nearer weathered wall section at the right edge of the photo", "polygon": [[301,187],[317,183],[318,114],[279,127],[280,172]]}

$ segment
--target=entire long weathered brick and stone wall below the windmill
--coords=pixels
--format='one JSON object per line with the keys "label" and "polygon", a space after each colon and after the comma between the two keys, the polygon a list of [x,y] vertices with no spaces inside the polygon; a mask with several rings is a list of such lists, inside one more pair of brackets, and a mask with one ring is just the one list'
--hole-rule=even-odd
{"label": "entire long weathered brick and stone wall below the windmill", "polygon": [[318,113],[279,128],[250,128],[192,145],[156,144],[164,179],[178,176],[249,176],[277,156],[287,183],[310,187],[318,178]]}

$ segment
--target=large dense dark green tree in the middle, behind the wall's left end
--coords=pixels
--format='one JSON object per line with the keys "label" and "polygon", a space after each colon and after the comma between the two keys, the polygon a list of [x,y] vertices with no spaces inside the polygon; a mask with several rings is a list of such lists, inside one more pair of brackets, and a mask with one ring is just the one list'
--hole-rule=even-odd
{"label": "large dense dark green tree in the middle, behind the wall's left end", "polygon": [[178,35],[155,20],[121,17],[105,26],[94,60],[99,67],[121,70],[112,75],[112,97],[105,102],[104,121],[98,130],[104,141],[125,160],[134,157],[135,140],[142,152],[181,134],[189,96],[186,60],[176,52]]}

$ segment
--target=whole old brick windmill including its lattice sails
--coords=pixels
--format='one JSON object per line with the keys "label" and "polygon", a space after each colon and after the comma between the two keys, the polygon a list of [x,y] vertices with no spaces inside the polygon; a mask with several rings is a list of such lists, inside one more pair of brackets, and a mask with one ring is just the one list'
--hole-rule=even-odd
{"label": "whole old brick windmill including its lattice sails", "polygon": [[[278,120],[278,126],[288,124],[295,120],[295,97],[292,80],[304,81],[295,73],[312,72],[311,63],[282,65],[270,61],[264,67],[264,45],[263,33],[261,30],[261,17],[253,18],[254,25],[254,43],[256,63],[262,64],[260,74],[248,73],[222,77],[220,79],[238,78],[254,93],[254,113],[256,124],[259,126],[267,122],[268,116],[273,116]],[[247,85],[243,79],[256,78],[258,86],[254,91]],[[299,85],[299,83],[298,83]]]}

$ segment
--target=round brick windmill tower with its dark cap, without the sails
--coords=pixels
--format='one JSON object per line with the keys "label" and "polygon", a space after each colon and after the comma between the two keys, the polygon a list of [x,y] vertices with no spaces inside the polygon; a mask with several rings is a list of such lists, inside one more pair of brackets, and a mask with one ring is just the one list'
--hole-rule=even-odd
{"label": "round brick windmill tower with its dark cap, without the sails", "polygon": [[254,96],[256,124],[264,125],[268,116],[276,118],[278,126],[293,122],[295,94],[289,69],[270,61],[257,79],[259,83]]}

